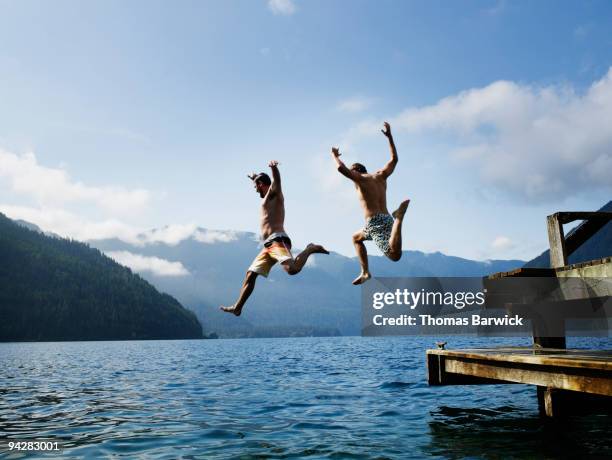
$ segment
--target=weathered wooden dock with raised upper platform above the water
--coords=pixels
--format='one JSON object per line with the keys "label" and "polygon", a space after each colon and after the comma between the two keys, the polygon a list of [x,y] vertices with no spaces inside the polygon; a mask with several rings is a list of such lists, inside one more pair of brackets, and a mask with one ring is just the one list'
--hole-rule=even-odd
{"label": "weathered wooden dock with raised upper platform above the water", "polygon": [[[584,222],[566,238],[563,224],[574,220]],[[562,293],[562,298],[546,304],[521,304],[512,300],[520,296],[513,295],[494,297],[495,282],[509,278],[547,278],[551,285],[559,285],[563,278],[609,280],[612,278],[612,257],[568,265],[569,255],[609,221],[612,221],[609,212],[561,212],[548,216],[551,267],[520,268],[486,277],[485,286],[491,288],[488,291],[492,293],[489,303],[497,302],[496,307],[501,306],[509,312],[537,310],[545,314],[546,309],[554,309],[558,315],[562,310],[567,312],[567,318],[580,317],[579,310],[585,305],[585,300],[595,309],[609,305],[612,295],[610,283],[588,286],[578,295],[570,293],[564,297]],[[543,415],[555,417],[579,413],[589,407],[612,412],[612,350],[567,350],[564,320],[559,321],[561,333],[555,337],[540,334],[534,321],[533,347],[427,350],[429,384],[530,384],[537,387]]]}

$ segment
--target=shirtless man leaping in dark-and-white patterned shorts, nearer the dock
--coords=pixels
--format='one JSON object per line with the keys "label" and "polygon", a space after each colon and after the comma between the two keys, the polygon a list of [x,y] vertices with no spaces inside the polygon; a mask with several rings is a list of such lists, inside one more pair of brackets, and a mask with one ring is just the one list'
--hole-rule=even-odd
{"label": "shirtless man leaping in dark-and-white patterned shorts, nearer the dock", "polygon": [[332,148],[332,155],[338,165],[338,171],[355,183],[359,201],[365,211],[366,225],[363,230],[359,230],[353,235],[353,244],[361,264],[361,273],[353,280],[355,285],[362,284],[372,277],[368,269],[368,253],[363,244],[364,241],[374,240],[383,254],[394,262],[402,257],[402,221],[410,200],[403,201],[393,212],[393,217],[389,215],[387,210],[387,178],[393,173],[397,164],[397,150],[395,150],[389,123],[385,122],[384,129],[381,131],[389,140],[391,159],[384,168],[374,174],[368,174],[365,166],[360,163],[354,163],[350,169],[347,168],[340,160],[338,148]]}

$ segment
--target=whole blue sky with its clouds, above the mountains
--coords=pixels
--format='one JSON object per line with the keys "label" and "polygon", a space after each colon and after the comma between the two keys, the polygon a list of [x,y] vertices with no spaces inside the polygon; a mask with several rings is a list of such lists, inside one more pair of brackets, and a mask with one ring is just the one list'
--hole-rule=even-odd
{"label": "whole blue sky with its clouds, above the mountains", "polygon": [[277,159],[296,246],[352,256],[363,217],[329,150],[382,166],[383,120],[406,249],[531,258],[546,214],[612,195],[607,1],[0,10],[0,211],[61,235],[257,231],[246,174]]}

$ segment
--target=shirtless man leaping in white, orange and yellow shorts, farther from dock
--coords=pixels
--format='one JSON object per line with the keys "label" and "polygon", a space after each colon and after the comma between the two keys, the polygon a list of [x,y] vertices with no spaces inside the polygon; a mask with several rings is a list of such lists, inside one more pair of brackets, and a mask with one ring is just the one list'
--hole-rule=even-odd
{"label": "shirtless man leaping in white, orange and yellow shorts, farther from dock", "polygon": [[272,170],[272,181],[266,173],[249,176],[253,181],[255,191],[263,198],[261,204],[261,236],[264,240],[264,248],[247,270],[236,303],[229,307],[221,307],[221,310],[233,313],[236,316],[240,316],[245,302],[253,292],[257,275],[267,277],[276,262],[279,262],[289,275],[296,275],[302,270],[311,254],[329,254],[323,246],[310,243],[295,259],[293,258],[291,255],[291,240],[285,233],[284,227],[285,198],[281,189],[278,161],[271,161],[268,166]]}

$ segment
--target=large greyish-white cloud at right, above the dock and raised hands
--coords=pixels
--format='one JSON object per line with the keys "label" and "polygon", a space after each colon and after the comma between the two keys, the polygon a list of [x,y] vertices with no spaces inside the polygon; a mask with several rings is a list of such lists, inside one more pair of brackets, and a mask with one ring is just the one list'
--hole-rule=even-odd
{"label": "large greyish-white cloud at right, above the dock and raised hands", "polygon": [[[390,120],[396,132],[444,137],[484,184],[529,202],[612,190],[612,68],[583,94],[497,81]],[[378,133],[362,122],[347,142]]]}

